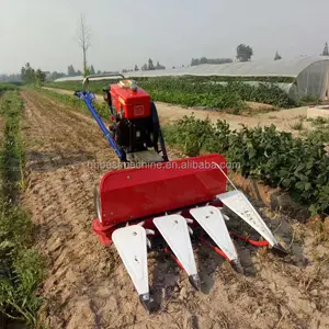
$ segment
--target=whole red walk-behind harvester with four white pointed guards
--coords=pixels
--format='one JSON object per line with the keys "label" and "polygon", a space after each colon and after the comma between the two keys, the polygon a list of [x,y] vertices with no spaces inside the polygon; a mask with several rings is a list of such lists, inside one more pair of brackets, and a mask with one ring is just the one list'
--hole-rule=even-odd
{"label": "whole red walk-behind harvester with four white pointed guards", "polygon": [[[112,124],[107,128],[93,106],[94,95],[83,80],[83,91],[75,94],[84,101],[110,146],[122,162],[139,163],[134,168],[110,171],[95,191],[98,218],[93,231],[104,246],[115,245],[117,252],[149,310],[147,252],[151,236],[162,237],[163,251],[188,273],[190,283],[200,290],[200,277],[192,249],[193,240],[209,247],[227,259],[237,272],[243,272],[231,238],[254,246],[269,246],[280,254],[279,243],[259,213],[227,177],[227,162],[217,154],[168,160],[155,103],[134,80],[123,79],[103,89]],[[227,191],[227,183],[232,191]],[[247,222],[264,240],[254,241],[229,232],[223,207]]]}

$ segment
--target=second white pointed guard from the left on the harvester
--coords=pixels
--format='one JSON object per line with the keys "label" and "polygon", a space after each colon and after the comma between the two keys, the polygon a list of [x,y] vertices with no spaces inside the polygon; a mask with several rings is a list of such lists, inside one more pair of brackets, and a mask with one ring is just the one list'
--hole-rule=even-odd
{"label": "second white pointed guard from the left on the harvester", "polygon": [[181,215],[168,215],[154,218],[154,224],[186,273],[197,274],[186,219]]}

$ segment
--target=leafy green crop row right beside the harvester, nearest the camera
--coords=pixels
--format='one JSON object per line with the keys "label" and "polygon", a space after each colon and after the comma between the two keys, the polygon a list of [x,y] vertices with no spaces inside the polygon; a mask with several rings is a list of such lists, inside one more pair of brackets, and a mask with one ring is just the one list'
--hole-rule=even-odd
{"label": "leafy green crop row right beside the harvester, nearest the camera", "polygon": [[202,151],[225,155],[243,177],[253,177],[288,191],[294,200],[309,205],[313,215],[329,212],[329,157],[318,139],[295,138],[265,128],[230,131],[225,121],[184,117],[164,129],[166,140],[189,156]]}

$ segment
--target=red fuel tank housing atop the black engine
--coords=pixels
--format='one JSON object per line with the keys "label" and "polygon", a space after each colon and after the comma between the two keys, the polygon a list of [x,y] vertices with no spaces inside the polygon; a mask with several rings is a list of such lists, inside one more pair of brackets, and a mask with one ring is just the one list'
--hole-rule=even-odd
{"label": "red fuel tank housing atop the black engine", "polygon": [[123,81],[110,86],[112,104],[117,113],[122,113],[126,120],[148,117],[150,115],[150,95],[139,87],[133,90],[129,83],[131,81]]}

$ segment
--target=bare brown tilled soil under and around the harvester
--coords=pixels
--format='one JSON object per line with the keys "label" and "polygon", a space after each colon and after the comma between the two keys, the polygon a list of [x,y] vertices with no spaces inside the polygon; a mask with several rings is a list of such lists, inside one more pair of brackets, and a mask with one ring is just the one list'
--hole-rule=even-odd
{"label": "bare brown tilled soil under and around the harvester", "polygon": [[[240,275],[196,246],[202,292],[195,293],[172,260],[151,252],[149,277],[158,309],[148,316],[115,248],[102,247],[91,230],[93,188],[106,170],[89,161],[116,161],[114,152],[90,117],[36,91],[21,94],[27,173],[22,202],[47,262],[41,315],[49,329],[329,328],[329,238],[317,222],[300,225],[266,208],[259,211],[292,256],[280,259],[237,241],[247,273]],[[175,113],[174,106],[168,109]],[[241,227],[235,218],[229,223]]]}

